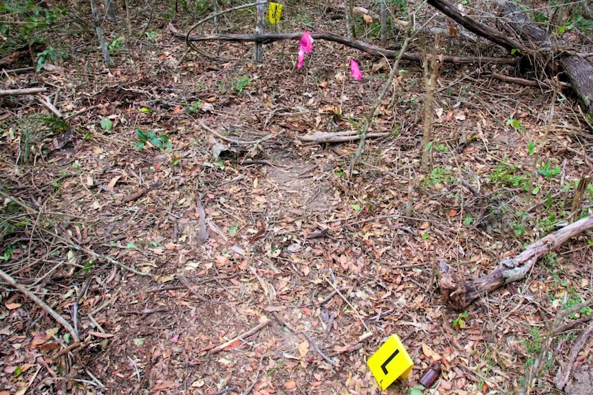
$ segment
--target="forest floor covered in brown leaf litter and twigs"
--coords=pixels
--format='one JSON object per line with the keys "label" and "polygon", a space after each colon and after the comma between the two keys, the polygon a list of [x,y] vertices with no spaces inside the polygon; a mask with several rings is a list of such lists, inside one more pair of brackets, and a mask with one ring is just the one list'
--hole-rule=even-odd
{"label": "forest floor covered in brown leaf litter and twigs", "polygon": [[[279,32],[344,32],[324,5],[296,3]],[[264,45],[260,64],[252,43],[186,53],[163,21],[169,8],[142,25],[138,7],[137,39],[104,27],[111,69],[87,26],[54,44],[69,56],[53,69],[1,77],[3,89],[47,87],[63,118],[34,96],[0,97],[0,269],[81,343],[1,280],[0,394],[378,394],[367,360],[393,334],[414,366],[388,394],[409,393],[433,361],[430,394],[563,392],[557,374],[591,312],[547,350],[549,323],[593,297],[590,234],[464,311],[444,304],[437,276],[441,261],[468,279],[490,273],[567,221],[593,168],[573,96],[557,93],[552,116],[553,89],[494,80],[492,65],[443,65],[422,172],[424,76],[404,61],[371,126],[389,135],[367,140],[348,177],[358,142],[298,137],[360,128],[389,74],[380,58],[321,40],[302,69],[297,41]],[[221,31],[251,32],[252,15],[227,14]],[[172,23],[186,32],[189,19]],[[376,25],[355,23],[378,45]],[[402,33],[390,34],[397,49]],[[446,54],[507,56],[442,39]],[[409,52],[433,43],[420,32]],[[213,143],[225,146],[219,159]],[[584,202],[587,215],[591,189]],[[581,346],[572,372],[584,382],[593,343]]]}

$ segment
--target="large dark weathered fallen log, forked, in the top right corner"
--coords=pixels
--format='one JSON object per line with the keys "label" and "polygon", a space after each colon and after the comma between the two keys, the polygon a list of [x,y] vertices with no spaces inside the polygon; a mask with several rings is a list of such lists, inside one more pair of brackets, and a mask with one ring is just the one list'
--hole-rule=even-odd
{"label": "large dark weathered fallen log, forked, in the top right corner", "polygon": [[546,31],[532,23],[528,16],[521,12],[518,5],[510,1],[498,0],[506,25],[511,32],[515,32],[521,38],[521,42],[510,38],[510,34],[504,34],[493,27],[479,23],[467,14],[462,14],[455,5],[447,1],[427,1],[467,30],[508,50],[518,49],[523,54],[535,55],[548,69],[564,72],[570,80],[572,89],[583,102],[585,112],[593,115],[593,65],[584,58],[571,54],[569,45],[563,41],[552,45],[552,40]]}

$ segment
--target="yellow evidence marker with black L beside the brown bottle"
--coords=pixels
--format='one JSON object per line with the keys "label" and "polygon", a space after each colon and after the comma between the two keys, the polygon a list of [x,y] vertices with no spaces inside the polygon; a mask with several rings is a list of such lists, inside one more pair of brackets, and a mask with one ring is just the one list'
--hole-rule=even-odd
{"label": "yellow evidence marker with black L beside the brown bottle", "polygon": [[391,335],[367,361],[381,390],[386,390],[398,378],[408,378],[414,363],[398,335]]}

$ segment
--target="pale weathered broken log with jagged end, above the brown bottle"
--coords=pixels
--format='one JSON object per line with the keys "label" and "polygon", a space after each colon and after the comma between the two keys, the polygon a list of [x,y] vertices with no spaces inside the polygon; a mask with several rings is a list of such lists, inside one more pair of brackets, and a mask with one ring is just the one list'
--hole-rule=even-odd
{"label": "pale weathered broken log with jagged end, above the brown bottle", "polygon": [[588,216],[541,238],[514,258],[502,260],[492,273],[473,281],[465,281],[449,265],[441,262],[439,285],[442,297],[452,308],[462,309],[478,297],[508,282],[523,279],[541,256],[557,249],[574,236],[593,229],[593,216]]}

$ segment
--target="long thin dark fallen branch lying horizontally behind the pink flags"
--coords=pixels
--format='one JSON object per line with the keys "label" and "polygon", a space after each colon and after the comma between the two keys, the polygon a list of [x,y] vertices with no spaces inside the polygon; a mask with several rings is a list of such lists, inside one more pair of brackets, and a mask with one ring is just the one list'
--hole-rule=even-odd
{"label": "long thin dark fallen branch lying horizontally behind the pink flags", "polygon": [[[185,40],[187,38],[188,42],[195,42],[195,41],[242,41],[242,42],[252,42],[252,41],[261,41],[263,43],[272,43],[274,41],[281,41],[281,40],[300,40],[302,33],[266,33],[266,34],[185,34],[177,30],[173,25],[169,24],[169,30],[173,35],[177,38]],[[333,41],[334,43],[339,43],[345,45],[346,47],[351,47],[354,49],[358,49],[359,51],[366,52],[367,54],[371,54],[374,56],[385,56],[386,58],[396,58],[398,56],[399,51],[393,51],[391,49],[385,49],[381,47],[377,47],[376,45],[370,45],[365,43],[364,41],[354,40],[351,38],[347,38],[345,36],[341,36],[340,34],[335,34],[332,32],[311,32],[311,37],[315,40],[325,40],[325,41]],[[414,60],[414,61],[421,61],[422,54],[403,54],[402,59],[405,60]],[[443,62],[446,63],[469,63],[469,64],[486,64],[492,63],[497,65],[515,65],[517,63],[517,58],[493,58],[493,57],[476,57],[476,56],[443,56]]]}

